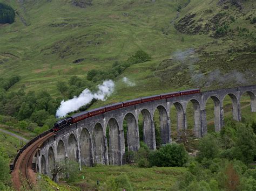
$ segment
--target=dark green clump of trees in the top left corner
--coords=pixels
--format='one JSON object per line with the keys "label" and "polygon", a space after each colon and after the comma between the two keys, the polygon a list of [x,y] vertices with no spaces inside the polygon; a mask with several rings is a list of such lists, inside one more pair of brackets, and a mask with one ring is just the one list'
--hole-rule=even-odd
{"label": "dark green clump of trees in the top left corner", "polygon": [[15,11],[11,6],[0,3],[0,23],[14,23]]}

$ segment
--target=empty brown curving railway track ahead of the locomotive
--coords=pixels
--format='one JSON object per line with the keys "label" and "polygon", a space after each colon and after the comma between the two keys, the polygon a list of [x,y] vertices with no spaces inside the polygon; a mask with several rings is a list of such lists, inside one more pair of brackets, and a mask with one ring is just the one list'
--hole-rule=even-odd
{"label": "empty brown curving railway track ahead of the locomotive", "polygon": [[22,182],[28,182],[28,186],[32,189],[33,185],[36,183],[35,174],[32,170],[32,160],[33,155],[36,153],[37,148],[43,144],[43,142],[51,137],[54,133],[50,132],[44,137],[37,139],[30,146],[28,146],[22,154],[19,156],[14,171],[12,171],[12,183],[16,190],[20,190]]}

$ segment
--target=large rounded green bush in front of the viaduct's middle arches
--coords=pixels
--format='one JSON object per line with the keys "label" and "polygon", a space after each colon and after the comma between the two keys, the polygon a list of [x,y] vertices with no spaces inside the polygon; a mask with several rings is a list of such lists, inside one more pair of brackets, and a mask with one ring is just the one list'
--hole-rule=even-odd
{"label": "large rounded green bush in front of the viaduct's middle arches", "polygon": [[151,166],[183,166],[187,159],[184,145],[176,143],[166,144],[149,156]]}

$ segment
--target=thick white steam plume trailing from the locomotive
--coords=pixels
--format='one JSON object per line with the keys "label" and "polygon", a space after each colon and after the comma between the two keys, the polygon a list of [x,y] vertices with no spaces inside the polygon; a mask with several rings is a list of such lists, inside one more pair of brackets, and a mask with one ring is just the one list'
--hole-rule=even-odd
{"label": "thick white steam plume trailing from the locomotive", "polygon": [[106,97],[110,96],[114,91],[114,82],[112,80],[104,81],[102,84],[98,85],[98,89],[97,93],[93,94],[86,88],[78,97],[74,96],[68,101],[62,100],[56,112],[56,117],[64,117],[69,112],[78,110],[83,105],[90,103],[93,98],[105,101]]}

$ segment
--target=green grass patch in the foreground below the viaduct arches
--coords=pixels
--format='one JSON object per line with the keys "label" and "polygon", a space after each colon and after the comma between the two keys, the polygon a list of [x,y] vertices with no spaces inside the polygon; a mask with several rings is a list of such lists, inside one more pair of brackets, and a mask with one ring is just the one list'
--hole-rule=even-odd
{"label": "green grass patch in the foreground below the viaduct arches", "polygon": [[[109,181],[116,178],[121,173],[125,173],[130,179],[134,190],[160,190],[170,188],[177,180],[178,176],[187,171],[184,167],[152,167],[138,168],[136,166],[104,166],[83,167],[78,176],[77,187],[86,189],[104,190]],[[85,177],[85,180],[82,179]],[[97,180],[99,186],[97,186]]]}

